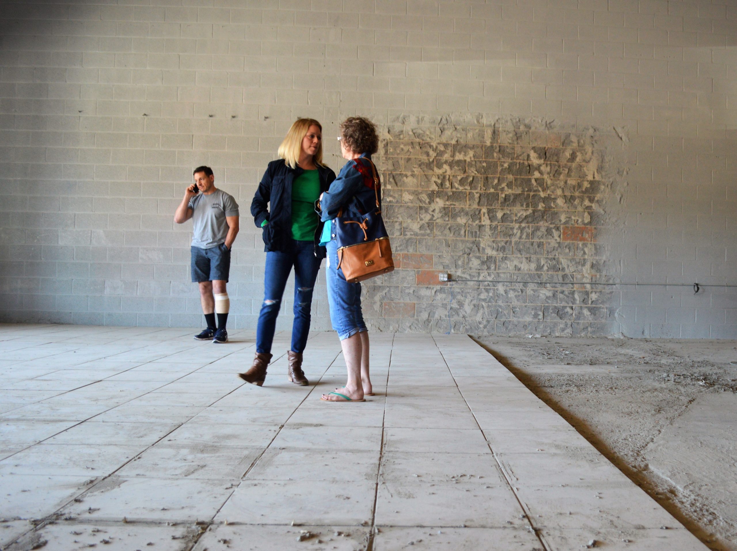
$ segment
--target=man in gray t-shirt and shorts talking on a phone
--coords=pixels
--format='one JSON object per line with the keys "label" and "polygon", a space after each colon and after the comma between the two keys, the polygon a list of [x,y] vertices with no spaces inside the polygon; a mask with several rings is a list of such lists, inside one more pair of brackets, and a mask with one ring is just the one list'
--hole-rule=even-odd
{"label": "man in gray t-shirt and shorts talking on a phone", "polygon": [[200,285],[200,302],[207,322],[207,328],[195,339],[223,343],[228,342],[230,300],[226,283],[231,249],[239,229],[238,204],[232,195],[215,187],[212,168],[197,167],[193,174],[195,183],[186,188],[174,221],[184,223],[192,218],[193,223],[192,283]]}

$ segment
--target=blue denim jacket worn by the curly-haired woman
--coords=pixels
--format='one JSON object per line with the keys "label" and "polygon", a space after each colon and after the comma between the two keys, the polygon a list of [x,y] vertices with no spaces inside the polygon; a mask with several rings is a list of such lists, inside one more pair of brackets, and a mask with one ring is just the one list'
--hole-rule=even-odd
{"label": "blue denim jacket worn by the curly-haired woman", "polygon": [[[377,195],[381,206],[381,186],[374,192],[374,173],[366,157],[371,159],[371,155],[363,153],[358,159],[346,162],[340,169],[338,178],[323,194],[320,201],[323,222],[338,216],[340,209],[343,209],[343,216],[366,214],[376,208]],[[377,178],[378,176],[377,173]]]}

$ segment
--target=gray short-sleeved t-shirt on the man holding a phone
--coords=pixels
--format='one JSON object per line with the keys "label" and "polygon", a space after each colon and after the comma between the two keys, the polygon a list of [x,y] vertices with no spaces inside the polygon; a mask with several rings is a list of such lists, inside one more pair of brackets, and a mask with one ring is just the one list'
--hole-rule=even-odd
{"label": "gray short-sleeved t-shirt on the man holding a phone", "polygon": [[188,209],[192,209],[192,246],[212,249],[225,243],[228,235],[226,216],[238,215],[238,204],[233,195],[223,190],[215,190],[209,195],[198,193],[189,199]]}

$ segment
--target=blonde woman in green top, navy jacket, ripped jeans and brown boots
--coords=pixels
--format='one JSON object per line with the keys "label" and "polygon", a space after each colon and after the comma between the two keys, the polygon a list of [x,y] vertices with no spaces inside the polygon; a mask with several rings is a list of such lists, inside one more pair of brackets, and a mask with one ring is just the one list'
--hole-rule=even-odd
{"label": "blonde woman in green top, navy jacket, ripped jeans and brown boots", "polygon": [[301,368],[302,353],[310,331],[312,289],[326,254],[320,246],[323,223],[315,212],[315,201],[335,180],[335,173],[323,164],[322,152],[320,123],[297,119],[279,146],[281,159],[269,163],[251,202],[251,214],[262,229],[265,244],[264,302],[256,327],[254,364],[239,376],[259,387],[272,358],[276,317],[292,268],[294,322],[287,378],[294,384],[309,384]]}

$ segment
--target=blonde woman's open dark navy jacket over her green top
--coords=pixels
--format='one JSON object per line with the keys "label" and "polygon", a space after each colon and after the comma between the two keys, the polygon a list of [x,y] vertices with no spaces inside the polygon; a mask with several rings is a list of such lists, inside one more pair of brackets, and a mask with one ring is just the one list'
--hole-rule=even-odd
{"label": "blonde woman's open dark navy jacket over her green top", "polygon": [[[251,201],[251,215],[256,227],[261,228],[263,221],[268,221],[262,228],[264,250],[289,252],[292,240],[292,184],[294,179],[303,173],[301,167],[290,168],[284,159],[269,163],[259,188]],[[335,173],[328,167],[318,166],[320,176],[320,193],[328,190]],[[317,213],[315,213],[317,216]],[[315,230],[315,256],[325,257],[325,247],[321,247],[320,234],[323,223],[320,221]]]}

